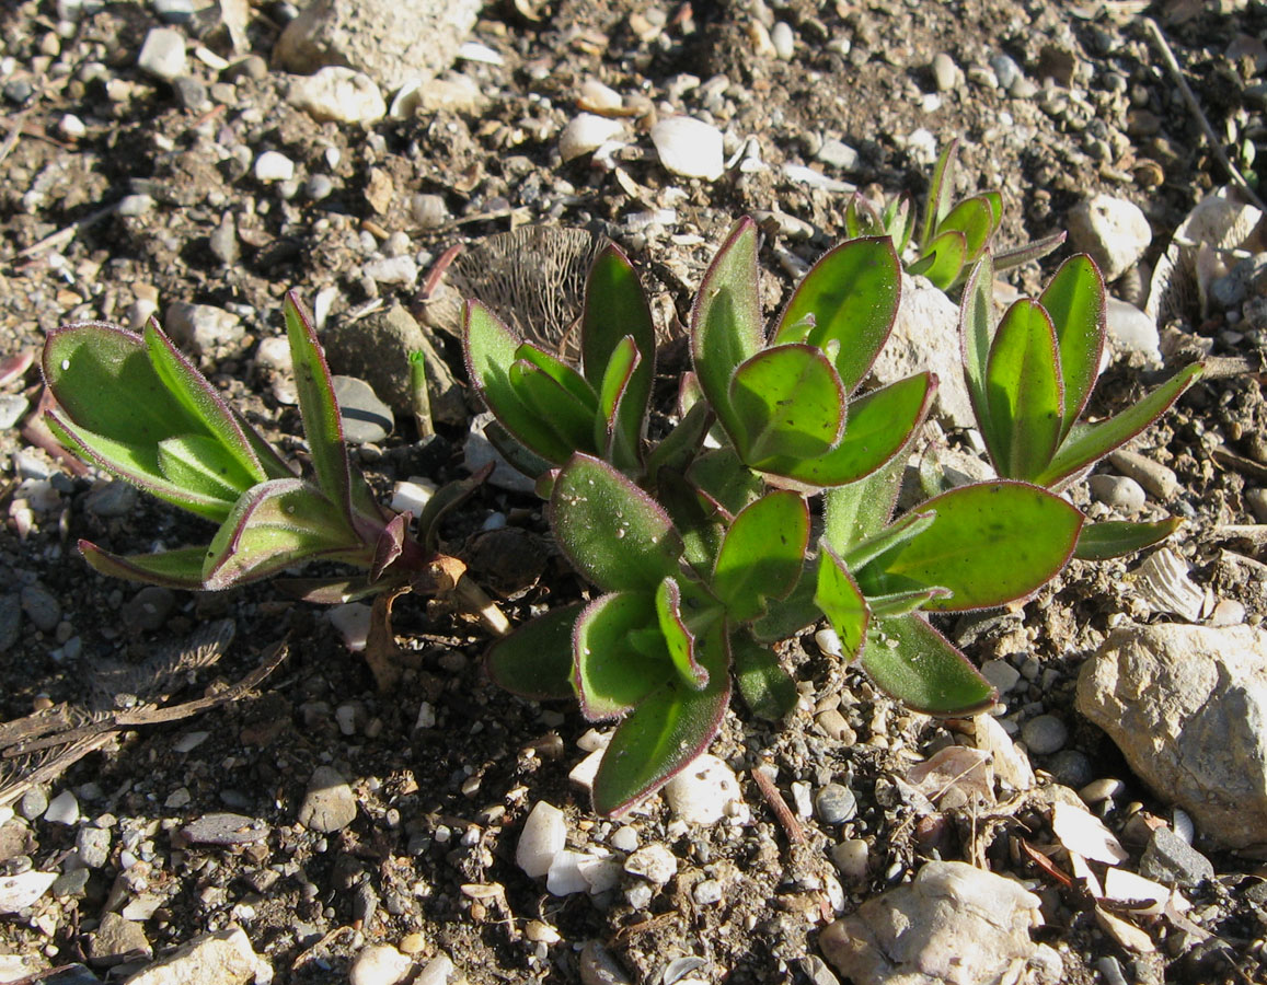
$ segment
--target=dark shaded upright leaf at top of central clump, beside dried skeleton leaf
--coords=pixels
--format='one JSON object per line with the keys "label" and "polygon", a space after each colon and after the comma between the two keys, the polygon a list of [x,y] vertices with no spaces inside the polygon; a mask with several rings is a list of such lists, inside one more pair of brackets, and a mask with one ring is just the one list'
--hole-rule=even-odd
{"label": "dark shaded upright leaf at top of central clump, beside dried skeleton leaf", "polygon": [[602,387],[608,363],[626,337],[632,337],[639,358],[620,401],[617,432],[637,448],[655,379],[655,323],[637,272],[612,244],[589,270],[580,318],[582,368],[595,389]]}

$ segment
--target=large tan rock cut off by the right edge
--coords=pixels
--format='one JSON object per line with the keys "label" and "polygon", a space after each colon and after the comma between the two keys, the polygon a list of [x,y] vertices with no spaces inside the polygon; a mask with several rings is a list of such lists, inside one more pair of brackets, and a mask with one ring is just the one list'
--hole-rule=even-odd
{"label": "large tan rock cut off by the right edge", "polygon": [[1077,706],[1202,834],[1267,857],[1267,632],[1120,627],[1083,665]]}

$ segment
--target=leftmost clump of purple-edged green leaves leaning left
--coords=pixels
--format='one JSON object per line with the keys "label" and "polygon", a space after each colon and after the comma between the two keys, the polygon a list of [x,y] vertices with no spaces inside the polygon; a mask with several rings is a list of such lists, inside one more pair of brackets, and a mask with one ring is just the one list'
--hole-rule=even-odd
{"label": "leftmost clump of purple-edged green leaves leaning left", "polygon": [[[85,558],[106,575],[205,590],[318,558],[360,568],[293,580],[296,594],[327,603],[452,590],[461,563],[436,552],[432,532],[474,484],[437,494],[419,518],[421,539],[411,538],[409,515],[383,508],[348,460],[329,370],[294,294],[285,319],[310,477],[224,401],[156,320],[141,334],[104,322],[49,333],[43,371],[56,401],[47,414],[53,434],[84,461],[218,524],[208,544],[127,557],[80,541]],[[380,606],[384,623],[388,610]]]}

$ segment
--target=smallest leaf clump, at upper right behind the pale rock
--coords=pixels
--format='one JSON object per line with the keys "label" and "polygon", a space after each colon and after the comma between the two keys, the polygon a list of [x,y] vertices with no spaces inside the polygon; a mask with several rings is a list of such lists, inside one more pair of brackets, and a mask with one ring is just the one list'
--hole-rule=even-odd
{"label": "smallest leaf clump, at upper right behind the pale rock", "polygon": [[[862,195],[855,195],[845,211],[849,235],[889,235],[901,257],[907,256],[907,248],[915,238],[906,262],[907,272],[927,277],[943,291],[962,284],[973,266],[986,256],[1003,218],[1003,198],[997,191],[981,191],[962,201],[952,199],[958,147],[958,141],[948,143],[933,168],[933,182],[917,238],[910,195],[900,195],[879,208]],[[1057,233],[1024,246],[996,249],[995,268],[1006,270],[1039,260],[1063,242],[1064,233]]]}

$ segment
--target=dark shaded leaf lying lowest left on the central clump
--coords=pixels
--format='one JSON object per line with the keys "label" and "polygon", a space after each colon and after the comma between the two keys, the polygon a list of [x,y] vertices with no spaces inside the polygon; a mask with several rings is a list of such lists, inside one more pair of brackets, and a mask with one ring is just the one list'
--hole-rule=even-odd
{"label": "dark shaded leaf lying lowest left on the central clump", "polygon": [[492,681],[537,701],[575,696],[571,639],[583,608],[560,605],[493,643],[484,658]]}

